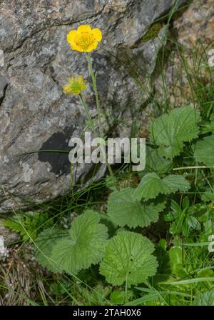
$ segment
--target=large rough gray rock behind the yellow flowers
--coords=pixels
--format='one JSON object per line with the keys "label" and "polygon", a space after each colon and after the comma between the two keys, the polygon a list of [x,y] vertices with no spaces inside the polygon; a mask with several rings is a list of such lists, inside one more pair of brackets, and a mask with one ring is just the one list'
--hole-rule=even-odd
{"label": "large rough gray rock behind the yellow flowers", "polygon": [[[178,5],[184,1],[178,1]],[[66,34],[79,24],[103,31],[103,41],[91,54],[97,71],[105,131],[113,118],[132,119],[146,99],[130,70],[151,73],[164,30],[154,41],[141,43],[149,27],[173,6],[174,0],[3,0],[0,4],[0,212],[26,206],[26,200],[47,201],[70,186],[68,154],[28,151],[69,150],[71,136],[81,136],[86,118],[74,96],[62,86],[71,74],[89,79],[84,54],[71,51]],[[91,114],[94,96],[85,91]],[[105,116],[105,117],[104,117]],[[141,114],[146,121],[146,114]],[[107,124],[108,123],[108,124]],[[118,135],[124,125],[116,128]],[[74,168],[73,183],[90,179],[92,164]],[[95,179],[106,170],[101,166]]]}

